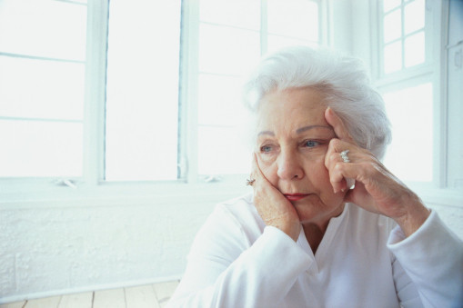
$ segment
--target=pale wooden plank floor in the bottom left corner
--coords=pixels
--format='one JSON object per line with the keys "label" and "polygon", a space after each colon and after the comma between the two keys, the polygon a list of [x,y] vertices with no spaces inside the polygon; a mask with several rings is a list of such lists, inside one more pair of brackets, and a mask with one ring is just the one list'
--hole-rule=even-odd
{"label": "pale wooden plank floor in the bottom left corner", "polygon": [[4,303],[0,308],[161,308],[178,282],[155,283],[130,288],[76,293],[30,301]]}

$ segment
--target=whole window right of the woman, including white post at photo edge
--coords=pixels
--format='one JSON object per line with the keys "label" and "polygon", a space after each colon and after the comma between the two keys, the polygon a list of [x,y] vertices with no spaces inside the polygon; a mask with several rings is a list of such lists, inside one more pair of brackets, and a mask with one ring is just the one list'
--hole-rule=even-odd
{"label": "whole window right of the woman, including white post at photo edge", "polygon": [[462,127],[456,120],[461,115],[461,87],[455,85],[461,80],[461,65],[454,61],[461,46],[458,40],[451,42],[452,25],[461,19],[448,20],[448,15],[452,19],[452,12],[458,12],[458,7],[448,6],[425,0],[383,0],[377,7],[376,83],[393,132],[385,164],[430,200],[458,190],[461,194],[461,138],[456,135]]}

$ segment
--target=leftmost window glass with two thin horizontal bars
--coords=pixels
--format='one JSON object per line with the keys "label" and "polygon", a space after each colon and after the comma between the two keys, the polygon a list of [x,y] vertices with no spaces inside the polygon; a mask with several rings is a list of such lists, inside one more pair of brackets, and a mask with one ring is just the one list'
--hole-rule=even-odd
{"label": "leftmost window glass with two thin horizontal bars", "polygon": [[0,2],[0,177],[82,176],[85,70],[85,2]]}

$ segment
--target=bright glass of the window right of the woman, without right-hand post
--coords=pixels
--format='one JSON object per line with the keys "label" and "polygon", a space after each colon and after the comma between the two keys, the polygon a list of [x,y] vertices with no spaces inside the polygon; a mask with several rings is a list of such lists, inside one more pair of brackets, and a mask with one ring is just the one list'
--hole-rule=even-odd
{"label": "bright glass of the window right of the woman, without right-hand post", "polygon": [[438,14],[437,5],[427,7],[425,0],[383,0],[378,6],[377,86],[393,134],[385,164],[400,179],[420,184],[438,178],[434,165],[438,67],[430,52],[437,40],[430,33],[433,14]]}

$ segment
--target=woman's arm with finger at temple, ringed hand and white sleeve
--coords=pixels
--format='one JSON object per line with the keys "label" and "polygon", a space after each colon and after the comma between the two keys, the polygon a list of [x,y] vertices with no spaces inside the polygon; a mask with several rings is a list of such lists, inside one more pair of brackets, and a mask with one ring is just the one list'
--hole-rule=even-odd
{"label": "woman's arm with finger at temple, ringed hand and white sleeve", "polygon": [[[337,134],[330,142],[325,163],[335,192],[344,194],[348,189],[346,179],[355,179],[355,188],[347,191],[345,200],[398,224],[388,247],[401,265],[393,264],[393,270],[404,305],[413,302],[418,291],[426,307],[463,307],[461,240],[373,154],[357,146],[337,114],[328,108],[325,116]],[[349,150],[350,162],[339,156],[344,150]],[[416,291],[409,285],[410,279]]]}

